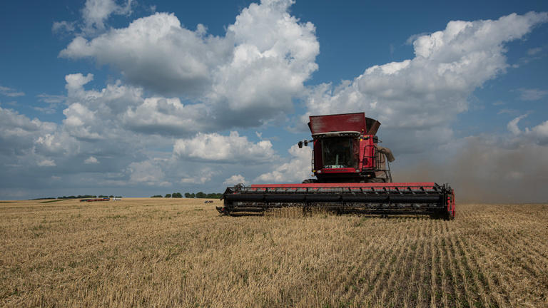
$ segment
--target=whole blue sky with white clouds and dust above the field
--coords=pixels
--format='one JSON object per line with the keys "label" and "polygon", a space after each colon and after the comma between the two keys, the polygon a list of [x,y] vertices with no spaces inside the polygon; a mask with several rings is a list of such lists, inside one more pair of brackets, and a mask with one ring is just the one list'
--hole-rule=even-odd
{"label": "whole blue sky with white clouds and dust above the field", "polygon": [[395,180],[545,202],[546,1],[0,7],[0,199],[299,183],[310,114],[382,122]]}

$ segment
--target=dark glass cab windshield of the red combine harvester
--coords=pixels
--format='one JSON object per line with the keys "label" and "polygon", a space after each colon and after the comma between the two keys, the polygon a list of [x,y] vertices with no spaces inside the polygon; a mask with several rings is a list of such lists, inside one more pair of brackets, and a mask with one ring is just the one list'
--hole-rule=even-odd
{"label": "dark glass cab windshield of the red combine harvester", "polygon": [[352,138],[322,140],[323,168],[355,168]]}

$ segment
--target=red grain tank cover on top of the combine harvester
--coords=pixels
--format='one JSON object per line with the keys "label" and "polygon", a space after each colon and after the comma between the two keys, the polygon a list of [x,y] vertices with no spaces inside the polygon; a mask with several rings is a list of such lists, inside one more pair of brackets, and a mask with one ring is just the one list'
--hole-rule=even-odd
{"label": "red grain tank cover on top of the combine harvester", "polygon": [[317,133],[329,133],[335,131],[357,131],[366,135],[375,135],[380,122],[366,118],[365,113],[343,113],[328,116],[310,116],[308,128],[314,135]]}

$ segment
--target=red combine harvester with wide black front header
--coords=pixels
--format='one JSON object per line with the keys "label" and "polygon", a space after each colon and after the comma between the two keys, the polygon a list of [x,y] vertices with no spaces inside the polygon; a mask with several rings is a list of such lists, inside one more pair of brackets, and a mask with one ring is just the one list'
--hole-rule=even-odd
{"label": "red combine harvester with wide black front header", "polygon": [[392,183],[392,152],[378,143],[380,122],[365,113],[310,116],[315,179],[302,184],[242,184],[225,190],[221,214],[270,208],[323,207],[336,212],[455,217],[455,192],[437,183]]}

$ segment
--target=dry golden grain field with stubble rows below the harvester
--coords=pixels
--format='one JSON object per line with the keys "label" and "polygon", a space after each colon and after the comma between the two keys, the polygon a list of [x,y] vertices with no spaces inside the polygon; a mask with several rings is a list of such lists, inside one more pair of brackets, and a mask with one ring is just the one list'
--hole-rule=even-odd
{"label": "dry golden grain field with stubble rows below the harvester", "polygon": [[548,205],[448,222],[218,204],[1,203],[0,306],[548,306]]}

